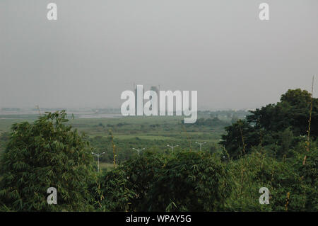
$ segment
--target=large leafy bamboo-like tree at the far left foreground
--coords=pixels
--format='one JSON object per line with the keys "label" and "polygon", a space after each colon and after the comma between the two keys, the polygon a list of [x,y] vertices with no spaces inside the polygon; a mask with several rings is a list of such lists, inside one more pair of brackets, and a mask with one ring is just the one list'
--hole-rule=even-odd
{"label": "large leafy bamboo-like tree at the far left foreground", "polygon": [[[88,210],[92,157],[88,142],[65,111],[34,123],[15,123],[1,157],[0,200],[10,210]],[[47,188],[57,188],[57,205],[47,204]]]}

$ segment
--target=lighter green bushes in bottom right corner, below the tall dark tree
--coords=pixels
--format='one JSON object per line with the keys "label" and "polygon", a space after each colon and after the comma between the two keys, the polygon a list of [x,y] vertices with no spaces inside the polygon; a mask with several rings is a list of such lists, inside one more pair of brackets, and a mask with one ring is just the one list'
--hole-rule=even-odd
{"label": "lighter green bushes in bottom right corner, below the tall dark tree", "polygon": [[[316,142],[317,143],[317,142]],[[287,159],[269,157],[261,147],[228,162],[234,189],[227,200],[231,211],[317,211],[317,144],[305,156],[304,142]],[[269,188],[269,205],[259,204],[259,188]],[[288,198],[289,196],[289,198]]]}

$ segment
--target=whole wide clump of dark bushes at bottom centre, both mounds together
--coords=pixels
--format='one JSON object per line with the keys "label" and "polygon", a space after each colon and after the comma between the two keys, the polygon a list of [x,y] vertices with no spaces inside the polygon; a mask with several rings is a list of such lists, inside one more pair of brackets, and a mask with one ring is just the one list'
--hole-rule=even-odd
{"label": "whole wide clump of dark bushes at bottom centre, both mounds together", "polygon": [[102,205],[117,211],[225,210],[231,190],[220,159],[203,152],[145,152],[107,172],[101,187]]}

